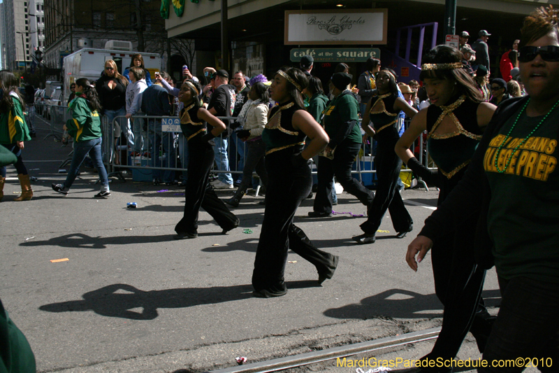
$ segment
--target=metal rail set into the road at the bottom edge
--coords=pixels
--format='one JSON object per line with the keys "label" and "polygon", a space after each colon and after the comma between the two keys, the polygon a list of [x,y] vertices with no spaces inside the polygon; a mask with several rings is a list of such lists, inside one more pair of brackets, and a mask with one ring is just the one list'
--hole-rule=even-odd
{"label": "metal rail set into the road at the bottom edge", "polygon": [[440,330],[441,328],[431,328],[427,330],[421,330],[420,332],[411,332],[395,337],[386,337],[368,342],[360,342],[356,344],[349,344],[347,346],[334,347],[333,349],[313,351],[310,353],[301,353],[300,355],[296,356],[286,356],[285,358],[266,360],[259,363],[238,365],[235,367],[228,367],[220,370],[212,370],[205,373],[266,373],[275,372],[277,370],[286,370],[289,368],[300,367],[301,365],[320,363],[321,361],[325,360],[344,358],[347,356],[356,355],[358,353],[365,353],[379,349],[386,349],[389,347],[401,346],[403,344],[412,344],[427,341],[429,339],[435,339],[439,335]]}

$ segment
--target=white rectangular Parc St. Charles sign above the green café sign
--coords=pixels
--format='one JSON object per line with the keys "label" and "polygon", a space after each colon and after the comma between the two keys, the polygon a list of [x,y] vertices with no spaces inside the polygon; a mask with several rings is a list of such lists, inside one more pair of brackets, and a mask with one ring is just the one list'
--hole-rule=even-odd
{"label": "white rectangular Parc St. Charles sign above the green caf\u00e9 sign", "polygon": [[284,44],[386,44],[387,9],[286,10]]}

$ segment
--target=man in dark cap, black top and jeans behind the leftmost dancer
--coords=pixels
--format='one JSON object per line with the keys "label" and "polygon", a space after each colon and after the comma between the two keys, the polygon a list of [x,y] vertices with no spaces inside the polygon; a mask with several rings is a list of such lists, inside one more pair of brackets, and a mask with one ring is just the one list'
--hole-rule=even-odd
{"label": "man in dark cap, black top and jeans behind the leftmost dancer", "polygon": [[[217,70],[212,73],[210,84],[214,92],[210,103],[208,104],[208,111],[217,117],[231,117],[235,109],[235,87],[229,85],[229,74],[225,70]],[[226,127],[231,125],[230,120],[223,120]],[[227,131],[222,133],[222,136],[216,137],[215,141],[215,163],[219,171],[230,171],[229,160],[227,156]],[[233,189],[233,178],[231,174],[219,173],[217,180],[212,181],[212,186],[215,189]]]}

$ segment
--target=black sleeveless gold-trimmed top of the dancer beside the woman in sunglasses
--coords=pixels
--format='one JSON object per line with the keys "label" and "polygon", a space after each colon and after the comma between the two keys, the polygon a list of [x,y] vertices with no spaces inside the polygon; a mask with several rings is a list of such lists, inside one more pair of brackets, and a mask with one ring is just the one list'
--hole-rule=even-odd
{"label": "black sleeveless gold-trimmed top of the dancer beside the woman in sunglasses", "polygon": [[[465,96],[451,101],[448,106],[427,108],[427,148],[439,170],[449,179],[470,163],[484,134],[477,124],[479,104]],[[453,120],[456,131],[435,134],[435,129],[447,116]]]}

